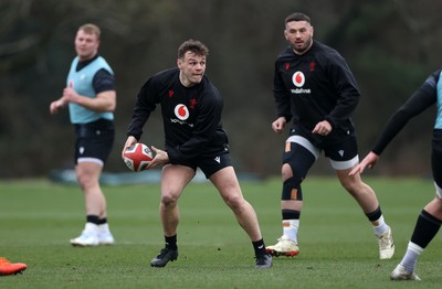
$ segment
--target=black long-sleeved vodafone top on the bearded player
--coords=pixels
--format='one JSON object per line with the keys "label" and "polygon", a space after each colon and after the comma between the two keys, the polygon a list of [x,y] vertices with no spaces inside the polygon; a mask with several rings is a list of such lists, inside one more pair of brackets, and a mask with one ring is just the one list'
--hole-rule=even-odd
{"label": "black long-sleeved vodafone top on the bearded player", "polygon": [[303,55],[291,46],[278,55],[273,93],[277,117],[307,131],[323,120],[333,128],[352,128],[350,115],[360,97],[343,56],[318,41]]}

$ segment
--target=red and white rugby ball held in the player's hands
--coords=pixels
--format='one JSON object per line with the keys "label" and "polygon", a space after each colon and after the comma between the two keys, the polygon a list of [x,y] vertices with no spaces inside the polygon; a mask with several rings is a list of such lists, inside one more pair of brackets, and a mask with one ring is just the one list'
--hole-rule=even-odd
{"label": "red and white rugby ball held in the player's hands", "polygon": [[141,142],[131,144],[123,154],[123,160],[127,168],[134,172],[140,172],[145,170],[152,159],[154,156],[151,150]]}

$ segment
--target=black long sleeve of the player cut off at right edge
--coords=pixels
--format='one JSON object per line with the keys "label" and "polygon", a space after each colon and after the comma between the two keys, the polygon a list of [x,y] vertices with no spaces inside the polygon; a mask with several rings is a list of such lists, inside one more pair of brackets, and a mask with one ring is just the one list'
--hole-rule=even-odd
{"label": "black long sleeve of the player cut off at right edge", "polygon": [[[438,82],[441,75],[441,69],[432,73],[425,82],[419,87],[411,97],[404,103],[399,109],[390,117],[386,127],[382,129],[381,135],[378,138],[373,149],[371,150],[376,154],[381,154],[383,149],[390,143],[396,135],[407,125],[407,122],[414,116],[421,114],[423,110],[433,106],[436,101],[441,101],[438,97]],[[439,108],[441,109],[441,108]],[[442,114],[438,110],[434,137],[438,136],[440,139],[440,130],[442,129]],[[439,132],[438,132],[439,130]]]}

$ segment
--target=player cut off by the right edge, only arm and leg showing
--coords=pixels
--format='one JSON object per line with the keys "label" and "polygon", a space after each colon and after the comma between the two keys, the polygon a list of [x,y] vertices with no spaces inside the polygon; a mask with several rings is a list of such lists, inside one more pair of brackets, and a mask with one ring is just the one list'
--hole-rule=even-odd
{"label": "player cut off by the right edge, only arm and leg showing", "polygon": [[390,117],[373,149],[350,172],[350,175],[355,175],[362,173],[366,168],[373,168],[385,148],[411,118],[427,108],[438,105],[431,153],[435,195],[419,214],[407,251],[391,272],[391,280],[420,280],[418,275],[414,274],[418,258],[438,234],[442,224],[442,82],[440,77],[441,69],[431,74],[407,103]]}

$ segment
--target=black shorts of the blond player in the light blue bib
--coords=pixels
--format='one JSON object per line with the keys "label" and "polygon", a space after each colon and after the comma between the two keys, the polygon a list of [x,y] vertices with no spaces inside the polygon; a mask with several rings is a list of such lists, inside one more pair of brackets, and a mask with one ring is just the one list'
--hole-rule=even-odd
{"label": "black shorts of the blond player in the light blue bib", "polygon": [[90,124],[76,124],[75,136],[75,164],[92,161],[103,165],[114,144],[114,121],[98,119]]}

